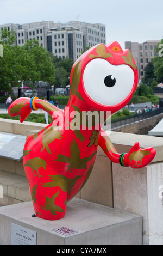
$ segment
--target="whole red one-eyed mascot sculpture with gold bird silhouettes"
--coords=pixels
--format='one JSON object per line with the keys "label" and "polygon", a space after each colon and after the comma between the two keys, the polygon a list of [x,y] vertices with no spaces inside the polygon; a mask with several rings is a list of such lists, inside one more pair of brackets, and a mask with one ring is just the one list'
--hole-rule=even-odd
{"label": "whole red one-eyed mascot sculpture with gold bird silhouettes", "polygon": [[[155,149],[140,149],[138,142],[129,153],[117,153],[102,129],[106,119],[131,100],[137,82],[131,52],[122,50],[118,42],[99,44],[73,64],[70,99],[64,111],[37,97],[21,97],[12,102],[8,113],[11,117],[20,115],[21,122],[39,108],[53,118],[45,129],[27,137],[23,151],[37,217],[58,220],[65,216],[67,202],[91,174],[98,145],[112,162],[124,167],[138,169],[153,160]],[[86,121],[83,113],[87,114]],[[103,118],[94,118],[91,123],[92,113],[102,113]]]}

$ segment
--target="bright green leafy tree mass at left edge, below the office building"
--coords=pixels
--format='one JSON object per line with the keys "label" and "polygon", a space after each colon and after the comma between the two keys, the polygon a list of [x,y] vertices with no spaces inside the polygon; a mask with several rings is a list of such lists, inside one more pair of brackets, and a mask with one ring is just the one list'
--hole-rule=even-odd
{"label": "bright green leafy tree mass at left edge, below the office building", "polygon": [[12,45],[15,41],[11,31],[1,32],[3,57],[0,58],[0,89],[10,91],[20,86],[18,81],[30,81],[34,88],[37,81],[53,83],[55,69],[48,51],[37,40],[27,40],[24,46]]}

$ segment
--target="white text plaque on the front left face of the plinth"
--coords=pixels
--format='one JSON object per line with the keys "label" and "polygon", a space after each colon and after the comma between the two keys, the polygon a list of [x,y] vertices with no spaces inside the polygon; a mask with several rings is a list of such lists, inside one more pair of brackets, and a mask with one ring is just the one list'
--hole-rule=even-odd
{"label": "white text plaque on the front left face of the plinth", "polygon": [[37,233],[11,222],[11,245],[37,245]]}

